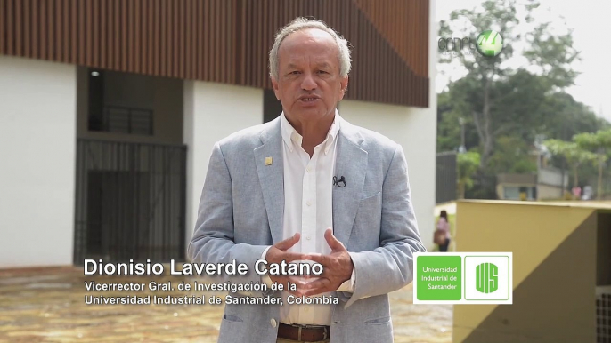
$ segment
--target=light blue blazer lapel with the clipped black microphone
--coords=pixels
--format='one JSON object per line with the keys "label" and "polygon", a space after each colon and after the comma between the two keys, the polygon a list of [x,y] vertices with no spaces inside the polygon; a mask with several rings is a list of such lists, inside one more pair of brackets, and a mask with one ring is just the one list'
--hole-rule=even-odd
{"label": "light blue blazer lapel with the clipped black microphone", "polygon": [[345,120],[338,133],[335,175],[344,176],[346,187],[333,186],[333,235],[348,244],[367,171],[367,151],[360,147],[363,137]]}

